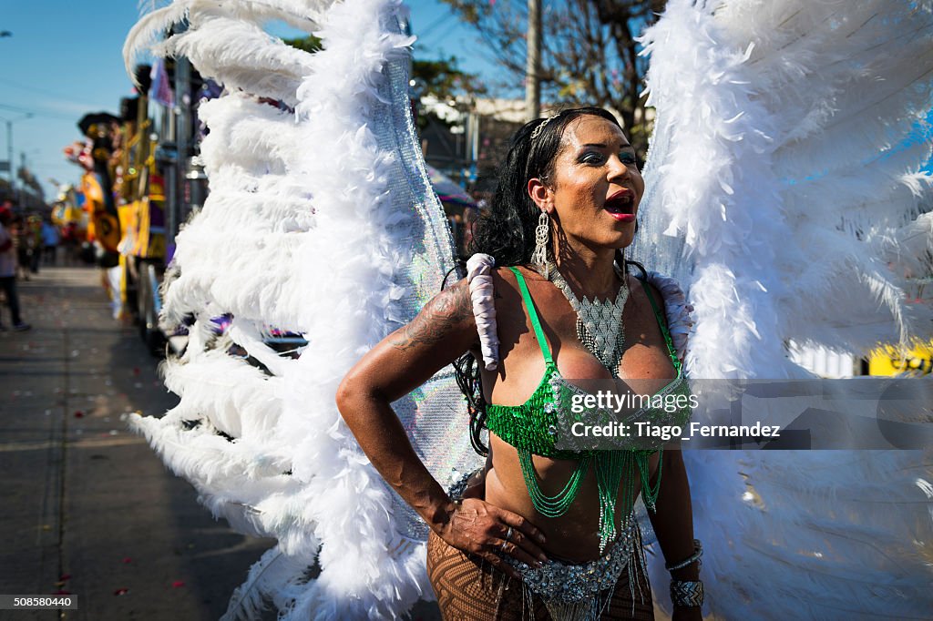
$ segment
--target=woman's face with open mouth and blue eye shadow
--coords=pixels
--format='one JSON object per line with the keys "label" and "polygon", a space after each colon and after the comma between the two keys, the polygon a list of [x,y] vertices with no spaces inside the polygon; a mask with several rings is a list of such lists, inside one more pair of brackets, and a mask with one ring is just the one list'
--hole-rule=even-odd
{"label": "woman's face with open mouth and blue eye shadow", "polygon": [[532,179],[528,192],[556,220],[559,244],[618,249],[634,238],[645,180],[619,126],[586,115],[564,129],[551,178]]}

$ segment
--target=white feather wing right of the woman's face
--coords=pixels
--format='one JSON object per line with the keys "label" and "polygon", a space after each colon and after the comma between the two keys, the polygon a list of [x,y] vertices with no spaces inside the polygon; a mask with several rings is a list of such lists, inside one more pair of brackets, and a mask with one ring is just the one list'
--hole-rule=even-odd
{"label": "white feather wing right of the woman's face", "polygon": [[[787,379],[790,339],[930,338],[929,2],[668,2],[635,254],[689,286],[691,375]],[[688,451],[717,618],[926,618],[929,451]],[[655,586],[666,584],[655,568]],[[660,590],[660,589],[656,589]],[[666,603],[666,598],[660,598]]]}

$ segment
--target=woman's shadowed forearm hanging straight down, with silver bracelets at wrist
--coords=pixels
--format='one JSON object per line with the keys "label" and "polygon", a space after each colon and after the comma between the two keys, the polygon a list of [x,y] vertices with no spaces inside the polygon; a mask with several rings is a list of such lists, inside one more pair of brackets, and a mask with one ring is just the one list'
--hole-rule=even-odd
{"label": "woman's shadowed forearm hanging straight down, with silver bracelets at wrist", "polygon": [[[655,503],[656,511],[648,512],[651,526],[658,535],[658,544],[667,564],[676,564],[689,559],[693,554],[693,508],[690,504],[690,487],[683,454],[679,449],[662,453],[661,490]],[[674,580],[695,581],[700,579],[700,563],[694,561],[682,569],[671,572]],[[675,621],[702,619],[699,607],[675,607]]]}

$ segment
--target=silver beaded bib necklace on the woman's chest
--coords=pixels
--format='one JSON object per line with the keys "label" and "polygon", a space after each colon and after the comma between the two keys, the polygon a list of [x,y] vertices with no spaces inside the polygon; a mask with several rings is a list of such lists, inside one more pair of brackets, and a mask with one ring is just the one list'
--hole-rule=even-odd
{"label": "silver beaded bib necklace on the woman's chest", "polygon": [[608,369],[613,378],[619,377],[619,363],[625,348],[622,311],[629,298],[629,286],[625,282],[624,273],[620,273],[620,278],[622,285],[615,301],[597,300],[595,296],[592,300],[588,297],[578,300],[554,262],[548,262],[548,280],[561,290],[570,302],[570,308],[577,313],[577,338]]}

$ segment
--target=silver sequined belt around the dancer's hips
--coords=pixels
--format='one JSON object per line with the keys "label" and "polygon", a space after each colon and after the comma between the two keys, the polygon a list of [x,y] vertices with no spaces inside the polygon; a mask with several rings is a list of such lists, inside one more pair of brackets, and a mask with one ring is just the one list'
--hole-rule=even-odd
{"label": "silver sequined belt around the dancer's hips", "polygon": [[619,536],[603,556],[585,563],[548,560],[535,568],[514,557],[504,559],[521,574],[524,586],[542,600],[563,603],[593,600],[596,594],[619,582],[639,540],[637,529],[633,513],[623,520]]}

